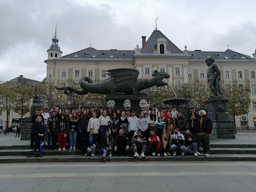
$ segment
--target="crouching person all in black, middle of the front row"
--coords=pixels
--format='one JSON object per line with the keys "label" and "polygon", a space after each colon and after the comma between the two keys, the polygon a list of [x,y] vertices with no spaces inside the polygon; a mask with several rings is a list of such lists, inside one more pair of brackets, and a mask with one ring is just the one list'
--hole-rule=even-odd
{"label": "crouching person all in black, middle of the front row", "polygon": [[119,130],[119,134],[115,137],[114,140],[114,151],[117,152],[118,156],[126,156],[127,150],[130,148],[129,138],[124,135],[124,130]]}

